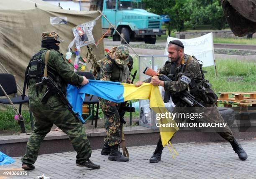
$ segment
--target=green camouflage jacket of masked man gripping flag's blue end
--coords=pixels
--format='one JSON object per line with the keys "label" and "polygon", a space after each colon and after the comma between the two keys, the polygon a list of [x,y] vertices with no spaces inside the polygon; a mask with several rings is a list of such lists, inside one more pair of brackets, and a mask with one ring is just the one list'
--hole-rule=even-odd
{"label": "green camouflage jacket of masked man gripping flag's blue end", "polygon": [[[41,48],[41,50],[45,50],[44,53],[42,53],[41,59],[43,62],[44,56],[46,54],[46,51],[48,49]],[[54,81],[54,83],[62,90],[63,88],[66,88],[66,84],[72,84],[72,85],[79,85],[83,81],[83,77],[77,75],[69,65],[69,63],[64,60],[62,57],[62,54],[59,53],[59,51],[51,50],[49,53],[49,60],[47,63],[47,70],[48,70],[48,77],[51,78],[51,80]],[[49,71],[51,71],[51,74]],[[39,89],[39,95],[36,95],[36,80],[35,78],[31,78],[29,80],[29,91],[28,91],[28,97],[29,97],[29,104],[30,106],[41,106],[41,105],[47,105],[49,107],[56,107],[62,104],[62,102],[57,98],[57,96],[53,95],[51,96],[46,104],[41,103],[41,99],[43,98],[45,92],[46,92],[46,86],[43,86],[42,91]],[[65,89],[64,89],[65,90]]]}

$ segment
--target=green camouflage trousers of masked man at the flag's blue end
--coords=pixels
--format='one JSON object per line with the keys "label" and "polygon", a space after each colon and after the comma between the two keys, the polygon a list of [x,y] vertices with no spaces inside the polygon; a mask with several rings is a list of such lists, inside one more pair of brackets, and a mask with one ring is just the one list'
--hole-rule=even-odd
{"label": "green camouflage trousers of masked man at the flag's blue end", "polygon": [[51,131],[53,124],[69,136],[69,140],[77,151],[76,163],[88,161],[92,151],[84,126],[67,110],[67,106],[64,104],[54,108],[31,106],[30,109],[35,116],[35,124],[27,143],[26,154],[21,159],[23,163],[34,164],[36,162],[40,144],[46,134]]}

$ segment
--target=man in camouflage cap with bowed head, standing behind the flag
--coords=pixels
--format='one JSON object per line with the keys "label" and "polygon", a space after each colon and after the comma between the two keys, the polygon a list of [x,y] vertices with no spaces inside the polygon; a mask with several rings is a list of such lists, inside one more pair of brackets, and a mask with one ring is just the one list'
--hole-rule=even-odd
{"label": "man in camouflage cap with bowed head, standing behind the flag", "polygon": [[[100,80],[127,83],[129,80],[129,50],[125,45],[113,47],[102,60]],[[102,155],[109,155],[109,160],[129,161],[118,150],[120,144],[120,117],[118,103],[99,98],[100,107],[105,117],[107,136],[104,140]]]}

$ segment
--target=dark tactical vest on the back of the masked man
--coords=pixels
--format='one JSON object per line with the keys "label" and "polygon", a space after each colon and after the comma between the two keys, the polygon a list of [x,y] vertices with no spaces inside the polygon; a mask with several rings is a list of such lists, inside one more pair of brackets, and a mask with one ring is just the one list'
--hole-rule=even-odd
{"label": "dark tactical vest on the back of the masked man", "polygon": [[[28,66],[25,71],[25,81],[24,81],[24,86],[23,86],[23,96],[25,96],[25,91],[26,87],[28,88],[29,86],[29,80],[31,78],[36,79],[36,83],[39,83],[42,81],[42,78],[44,76],[44,67],[45,67],[45,62],[44,59],[41,58],[43,53],[46,53],[47,50],[41,50],[33,57],[31,57],[30,62],[28,63]],[[54,79],[54,83],[56,86],[61,89],[61,91],[66,94],[66,83],[64,80],[59,76],[59,74],[54,71],[50,66],[47,66],[47,72],[48,76]],[[38,96],[38,91],[42,91],[43,86],[37,87],[36,88],[36,95]]]}

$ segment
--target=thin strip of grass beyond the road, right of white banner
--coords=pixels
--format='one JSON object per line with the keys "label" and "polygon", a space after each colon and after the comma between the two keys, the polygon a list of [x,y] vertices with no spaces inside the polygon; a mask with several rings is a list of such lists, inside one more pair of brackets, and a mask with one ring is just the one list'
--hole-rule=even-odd
{"label": "thin strip of grass beyond the road, right of white banner", "polygon": [[248,44],[256,45],[256,38],[214,38],[213,43],[234,43],[234,44]]}

